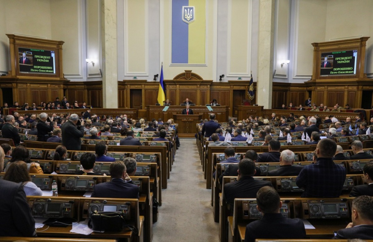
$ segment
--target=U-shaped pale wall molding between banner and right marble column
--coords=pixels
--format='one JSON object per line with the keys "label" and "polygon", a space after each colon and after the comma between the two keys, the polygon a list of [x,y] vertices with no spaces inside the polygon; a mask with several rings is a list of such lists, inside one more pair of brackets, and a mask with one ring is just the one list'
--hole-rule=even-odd
{"label": "U-shaped pale wall molding between banner and right marble column", "polygon": [[232,0],[228,0],[228,25],[227,25],[227,70],[226,77],[250,77],[251,68],[251,25],[253,18],[253,0],[249,0],[248,4],[248,29],[247,29],[247,72],[232,72],[231,71],[231,26],[232,26]]}

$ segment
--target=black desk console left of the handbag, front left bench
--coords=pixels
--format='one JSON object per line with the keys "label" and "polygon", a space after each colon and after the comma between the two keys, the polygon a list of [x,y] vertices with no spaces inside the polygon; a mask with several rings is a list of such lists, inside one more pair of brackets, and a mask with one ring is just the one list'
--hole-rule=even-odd
{"label": "black desk console left of the handbag, front left bench", "polygon": [[[29,201],[30,203],[31,201]],[[72,201],[61,201],[59,199],[36,198],[31,202],[32,216],[44,218],[73,217],[74,206]]]}

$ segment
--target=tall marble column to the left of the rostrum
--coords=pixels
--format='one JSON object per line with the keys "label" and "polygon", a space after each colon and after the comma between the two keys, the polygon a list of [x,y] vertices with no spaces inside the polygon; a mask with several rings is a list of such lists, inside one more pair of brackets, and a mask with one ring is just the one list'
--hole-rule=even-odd
{"label": "tall marble column to the left of the rostrum", "polygon": [[101,0],[103,108],[118,108],[116,0]]}

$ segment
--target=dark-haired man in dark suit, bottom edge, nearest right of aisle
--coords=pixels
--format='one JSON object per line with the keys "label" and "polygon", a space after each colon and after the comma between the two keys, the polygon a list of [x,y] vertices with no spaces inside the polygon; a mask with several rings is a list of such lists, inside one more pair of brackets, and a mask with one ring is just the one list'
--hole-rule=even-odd
{"label": "dark-haired man in dark suit, bottom edge, nearest right of aisle", "polygon": [[273,187],[265,186],[256,195],[257,209],[263,214],[260,220],[246,226],[245,242],[255,239],[305,239],[305,228],[299,218],[286,218],[280,214],[282,202]]}

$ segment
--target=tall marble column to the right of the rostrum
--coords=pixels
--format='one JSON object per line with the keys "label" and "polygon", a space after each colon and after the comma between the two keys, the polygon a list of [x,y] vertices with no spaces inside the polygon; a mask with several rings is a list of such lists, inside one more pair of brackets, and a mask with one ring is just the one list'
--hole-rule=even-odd
{"label": "tall marble column to the right of the rostrum", "polygon": [[257,103],[272,108],[273,46],[275,31],[275,0],[259,3],[259,49]]}

